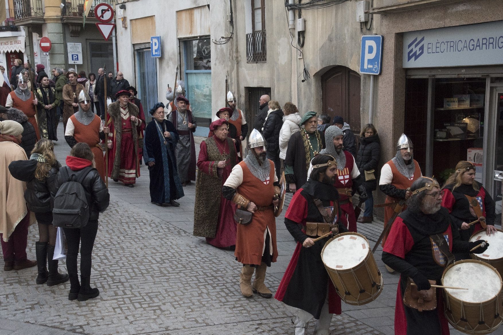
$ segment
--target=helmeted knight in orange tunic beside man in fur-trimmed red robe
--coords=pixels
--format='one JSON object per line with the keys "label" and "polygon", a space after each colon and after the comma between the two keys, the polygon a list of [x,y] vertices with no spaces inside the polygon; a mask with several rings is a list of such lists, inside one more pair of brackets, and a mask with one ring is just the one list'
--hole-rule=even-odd
{"label": "helmeted knight in orange tunic beside man in fur-trimmed red robe", "polygon": [[78,111],[68,118],[64,139],[70,147],[79,142],[89,144],[94,154],[95,168],[105,181],[105,159],[103,149],[99,144],[105,139],[103,122],[98,115],[93,113],[91,98],[85,90],[80,91],[78,95]]}

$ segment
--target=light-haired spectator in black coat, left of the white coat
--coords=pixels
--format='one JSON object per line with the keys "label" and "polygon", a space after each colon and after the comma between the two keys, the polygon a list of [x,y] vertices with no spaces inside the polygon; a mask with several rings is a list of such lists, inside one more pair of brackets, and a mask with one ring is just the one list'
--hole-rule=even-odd
{"label": "light-haired spectator in black coat, left of the white coat", "polygon": [[280,161],[280,143],[279,135],[281,126],[283,126],[283,111],[280,109],[280,103],[276,100],[271,100],[268,103],[269,111],[267,112],[266,121],[262,128],[262,135],[267,144],[267,158],[274,162],[276,176],[280,179],[281,161]]}

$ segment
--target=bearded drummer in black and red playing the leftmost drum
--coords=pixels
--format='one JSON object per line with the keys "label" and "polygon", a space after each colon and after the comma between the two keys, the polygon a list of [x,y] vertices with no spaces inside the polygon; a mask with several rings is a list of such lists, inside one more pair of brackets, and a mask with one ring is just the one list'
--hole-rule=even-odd
{"label": "bearded drummer in black and red playing the leftmost drum", "polygon": [[[348,231],[338,220],[342,212],[339,193],[333,186],[337,163],[332,156],[319,154],[312,159],[312,165],[309,180],[294,194],[285,214],[285,225],[297,241],[297,248],[275,296],[299,308],[292,318],[296,335],[307,334],[307,324],[313,317],[318,320],[314,333],[328,334],[332,313],[341,314],[341,298],[321,260],[321,250],[331,236],[313,242],[333,226],[340,233]],[[315,205],[316,200],[321,201],[321,209]]]}

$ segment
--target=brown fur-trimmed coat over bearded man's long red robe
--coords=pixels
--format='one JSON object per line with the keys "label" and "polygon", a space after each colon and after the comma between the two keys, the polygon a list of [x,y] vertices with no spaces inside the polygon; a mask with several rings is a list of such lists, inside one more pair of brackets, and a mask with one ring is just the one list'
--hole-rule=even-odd
{"label": "brown fur-trimmed coat over bearded man's long red robe", "polygon": [[[128,101],[127,108],[130,116],[138,117],[139,109],[136,107],[134,103]],[[110,152],[110,154],[114,155],[114,163],[112,173],[110,178],[118,179],[119,178],[119,169],[121,166],[121,140],[122,140],[122,117],[121,117],[121,107],[119,102],[113,102],[108,106],[108,121],[107,127],[110,127],[109,138],[112,139],[114,145],[112,148],[115,149],[114,152]],[[132,122],[131,122],[132,123]],[[141,129],[141,124],[136,127],[136,131],[132,132],[133,141],[136,143],[134,146],[134,155],[138,157],[138,131]],[[137,161],[137,159],[135,159]],[[140,166],[136,164],[136,177],[140,177]],[[109,170],[110,171],[110,170]]]}

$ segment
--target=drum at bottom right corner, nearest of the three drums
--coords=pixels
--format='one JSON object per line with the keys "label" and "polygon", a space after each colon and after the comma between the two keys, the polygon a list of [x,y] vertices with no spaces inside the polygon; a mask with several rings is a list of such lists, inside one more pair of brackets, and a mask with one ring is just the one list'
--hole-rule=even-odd
{"label": "drum at bottom right corner, nearest of the three drums", "polygon": [[479,260],[462,260],[449,265],[442,285],[445,288],[445,316],[456,329],[467,334],[488,334],[501,324],[503,293],[501,276]]}

